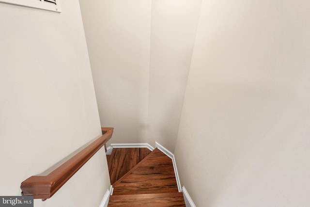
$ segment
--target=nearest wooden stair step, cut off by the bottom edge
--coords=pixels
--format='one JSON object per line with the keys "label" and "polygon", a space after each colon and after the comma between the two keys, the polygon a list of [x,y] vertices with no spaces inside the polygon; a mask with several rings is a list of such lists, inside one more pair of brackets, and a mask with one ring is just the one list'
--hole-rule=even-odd
{"label": "nearest wooden stair step, cut off by the bottom edge", "polygon": [[182,192],[111,195],[108,207],[185,207]]}

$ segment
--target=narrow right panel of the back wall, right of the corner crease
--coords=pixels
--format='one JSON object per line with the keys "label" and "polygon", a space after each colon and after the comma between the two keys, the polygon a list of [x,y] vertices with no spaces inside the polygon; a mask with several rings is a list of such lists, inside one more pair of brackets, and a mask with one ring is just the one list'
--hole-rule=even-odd
{"label": "narrow right panel of the back wall, right of the corner crease", "polygon": [[149,140],[171,152],[183,106],[201,0],[152,0]]}

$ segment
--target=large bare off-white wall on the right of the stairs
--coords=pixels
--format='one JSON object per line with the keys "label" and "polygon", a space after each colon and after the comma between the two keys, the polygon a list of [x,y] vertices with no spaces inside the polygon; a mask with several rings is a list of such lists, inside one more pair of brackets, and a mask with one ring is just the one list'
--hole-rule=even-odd
{"label": "large bare off-white wall on the right of the stairs", "polygon": [[202,0],[175,148],[198,207],[309,206],[309,10]]}

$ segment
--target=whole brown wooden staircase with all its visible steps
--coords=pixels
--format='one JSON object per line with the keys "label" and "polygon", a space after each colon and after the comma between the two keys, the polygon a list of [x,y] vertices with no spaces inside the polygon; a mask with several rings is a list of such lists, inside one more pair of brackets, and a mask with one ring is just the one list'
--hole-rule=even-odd
{"label": "whole brown wooden staircase with all its visible steps", "polygon": [[114,148],[107,159],[114,188],[108,207],[185,207],[172,160],[159,149]]}

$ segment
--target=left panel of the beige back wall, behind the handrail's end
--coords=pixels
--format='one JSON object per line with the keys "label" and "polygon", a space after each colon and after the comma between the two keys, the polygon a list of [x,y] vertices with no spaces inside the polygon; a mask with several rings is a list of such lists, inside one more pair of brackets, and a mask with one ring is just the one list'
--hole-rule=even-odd
{"label": "left panel of the beige back wall, behind the handrail's end", "polygon": [[80,0],[101,125],[113,143],[147,138],[151,0]]}

